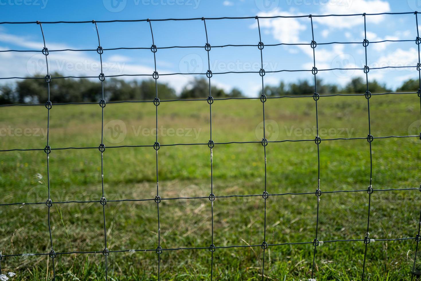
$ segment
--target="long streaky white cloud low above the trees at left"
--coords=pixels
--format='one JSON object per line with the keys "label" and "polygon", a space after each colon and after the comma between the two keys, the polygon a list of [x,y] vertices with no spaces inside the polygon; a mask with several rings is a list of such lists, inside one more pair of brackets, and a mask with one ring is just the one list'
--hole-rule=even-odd
{"label": "long streaky white cloud low above the trees at left", "polygon": [[[29,40],[28,37],[16,36],[7,33],[0,33],[0,42],[17,45],[24,48],[40,50],[44,47],[42,43]],[[68,45],[48,42],[51,50],[71,49]],[[0,50],[8,50],[7,46],[0,45]],[[41,52],[0,52],[2,64],[6,67],[0,68],[0,77],[26,77],[35,75],[46,75],[45,56]],[[107,75],[136,75],[152,74],[154,69],[142,64],[132,64],[132,59],[122,55],[103,56],[103,72]],[[10,67],[8,67],[10,66]],[[12,67],[13,66],[13,67]],[[98,77],[101,72],[101,63],[96,52],[62,51],[50,52],[48,55],[49,72],[59,72],[65,76],[93,76]],[[163,67],[160,73],[171,73],[173,71]],[[149,76],[121,76],[119,79],[150,79]],[[194,77],[184,75],[160,75],[159,81],[169,83],[177,93]],[[11,80],[1,80],[0,83],[8,83]],[[229,86],[218,83],[222,88]]]}

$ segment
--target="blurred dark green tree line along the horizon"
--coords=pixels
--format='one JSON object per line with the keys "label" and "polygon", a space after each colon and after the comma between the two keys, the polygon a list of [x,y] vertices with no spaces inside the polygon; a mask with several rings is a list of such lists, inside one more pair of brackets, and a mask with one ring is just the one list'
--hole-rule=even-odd
{"label": "blurred dark green tree line along the horizon", "polygon": [[[59,73],[54,73],[53,77],[63,77]],[[42,77],[39,77],[42,78]],[[44,103],[48,99],[44,79],[24,79],[15,84],[5,84],[0,86],[0,104],[16,103]],[[102,98],[101,83],[97,80],[87,78],[60,78],[54,79],[50,84],[50,100],[53,103],[66,102],[98,102]],[[319,94],[353,94],[364,93],[366,82],[363,78],[353,78],[344,87],[336,84],[323,83],[317,80],[317,92]],[[380,84],[376,80],[370,81],[368,87],[372,93],[390,92],[385,84]],[[206,98],[209,94],[209,84],[206,78],[196,78],[189,82],[182,89],[179,95],[174,88],[167,83],[157,83],[160,99],[197,99]],[[418,80],[410,79],[405,81],[396,91],[417,91]],[[242,97],[243,93],[233,88],[226,92],[224,89],[211,85],[212,96]],[[314,83],[308,80],[298,80],[293,83],[280,82],[277,86],[265,86],[266,96],[293,96],[312,95]],[[262,91],[258,94],[261,95]],[[125,81],[117,78],[107,79],[104,83],[104,98],[107,101],[122,100],[153,100],[155,98],[155,80],[132,80]]]}

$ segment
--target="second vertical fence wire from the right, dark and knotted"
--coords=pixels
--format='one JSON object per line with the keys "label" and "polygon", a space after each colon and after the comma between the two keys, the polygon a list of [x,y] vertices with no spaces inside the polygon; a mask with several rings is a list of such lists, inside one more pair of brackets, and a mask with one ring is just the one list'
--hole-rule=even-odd
{"label": "second vertical fence wire from the right, dark and knotted", "polygon": [[373,177],[373,155],[371,152],[371,142],[373,142],[373,136],[371,135],[371,125],[370,125],[370,97],[371,93],[368,89],[368,72],[370,71],[370,68],[368,67],[367,62],[367,46],[369,44],[367,40],[367,27],[366,27],[366,13],[363,13],[362,15],[364,17],[364,40],[362,45],[364,46],[365,50],[365,66],[364,66],[364,73],[365,73],[365,82],[366,82],[366,91],[365,91],[365,98],[367,99],[367,112],[368,112],[368,135],[367,135],[367,141],[370,145],[370,185],[368,186],[367,193],[368,193],[368,215],[367,215],[367,232],[365,233],[364,237],[364,261],[362,263],[362,280],[364,280],[364,273],[365,273],[365,262],[367,259],[367,247],[370,243],[370,205],[371,205],[371,194],[373,193],[373,187],[372,187],[372,177]]}

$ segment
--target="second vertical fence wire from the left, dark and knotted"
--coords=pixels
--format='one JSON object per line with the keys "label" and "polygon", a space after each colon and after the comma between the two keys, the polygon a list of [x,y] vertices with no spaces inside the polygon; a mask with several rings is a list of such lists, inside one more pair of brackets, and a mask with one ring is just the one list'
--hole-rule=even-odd
{"label": "second vertical fence wire from the left, dark and knotted", "polygon": [[104,250],[102,251],[102,254],[105,256],[105,280],[108,280],[108,256],[109,256],[109,250],[107,246],[107,224],[105,220],[105,205],[107,205],[107,199],[105,198],[104,194],[104,151],[105,151],[105,145],[104,145],[104,107],[106,106],[106,102],[104,99],[104,71],[102,69],[102,54],[104,53],[103,48],[101,47],[101,41],[99,40],[99,31],[98,31],[98,25],[96,24],[96,21],[92,21],[93,24],[95,24],[96,29],[96,35],[98,36],[98,48],[96,49],[96,52],[99,54],[99,60],[101,62],[101,73],[99,74],[99,80],[101,81],[101,100],[99,101],[99,105],[101,106],[101,144],[99,145],[99,151],[101,152],[101,187],[102,187],[102,197],[101,197],[101,205],[102,205],[102,215],[104,219]]}

